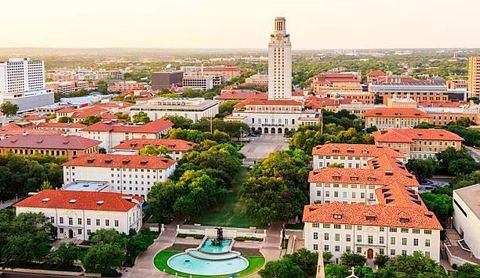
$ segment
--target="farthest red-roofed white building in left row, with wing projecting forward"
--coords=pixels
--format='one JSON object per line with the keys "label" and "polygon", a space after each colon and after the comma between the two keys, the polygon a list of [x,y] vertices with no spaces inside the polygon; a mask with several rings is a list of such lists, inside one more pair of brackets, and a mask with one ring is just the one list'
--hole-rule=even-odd
{"label": "farthest red-roofed white building in left row, with wing projecting forward", "polygon": [[128,139],[159,139],[173,127],[168,120],[155,120],[146,124],[126,124],[121,121],[101,121],[80,131],[83,137],[100,140],[100,147],[110,151],[113,146]]}

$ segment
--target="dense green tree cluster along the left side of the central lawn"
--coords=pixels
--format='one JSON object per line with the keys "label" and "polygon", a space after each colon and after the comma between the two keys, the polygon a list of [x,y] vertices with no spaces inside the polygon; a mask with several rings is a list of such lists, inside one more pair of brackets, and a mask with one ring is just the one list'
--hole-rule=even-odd
{"label": "dense green tree cluster along the left side of the central lawn", "polygon": [[150,212],[159,219],[190,217],[218,204],[239,172],[241,159],[230,143],[201,141],[183,155],[168,181],[152,187],[148,194]]}

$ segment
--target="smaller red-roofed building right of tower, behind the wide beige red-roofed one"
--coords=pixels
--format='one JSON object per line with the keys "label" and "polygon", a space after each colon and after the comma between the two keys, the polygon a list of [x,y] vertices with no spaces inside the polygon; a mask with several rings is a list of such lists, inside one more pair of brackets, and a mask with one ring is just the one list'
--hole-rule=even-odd
{"label": "smaller red-roofed building right of tower, behind the wide beige red-roofed one", "polygon": [[416,108],[376,108],[363,115],[365,126],[378,130],[413,128],[422,122],[430,123],[430,115]]}

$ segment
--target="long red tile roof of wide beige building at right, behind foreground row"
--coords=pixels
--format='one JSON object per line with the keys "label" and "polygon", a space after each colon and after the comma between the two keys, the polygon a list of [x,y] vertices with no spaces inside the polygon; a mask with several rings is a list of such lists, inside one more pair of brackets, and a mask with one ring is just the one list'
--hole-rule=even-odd
{"label": "long red tile roof of wide beige building at right, behind foreground row", "polygon": [[433,141],[463,141],[463,138],[444,129],[389,129],[375,131],[375,142],[402,142],[411,143],[416,140]]}

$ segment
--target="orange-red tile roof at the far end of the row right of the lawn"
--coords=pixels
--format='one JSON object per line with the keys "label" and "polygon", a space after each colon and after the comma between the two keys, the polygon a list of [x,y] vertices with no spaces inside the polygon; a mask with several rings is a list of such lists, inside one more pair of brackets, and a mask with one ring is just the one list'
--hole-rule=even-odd
{"label": "orange-red tile roof at the far end of the row right of the lawn", "polygon": [[312,155],[338,155],[353,157],[379,157],[387,154],[391,157],[402,157],[402,153],[389,147],[368,144],[325,144],[313,148]]}

